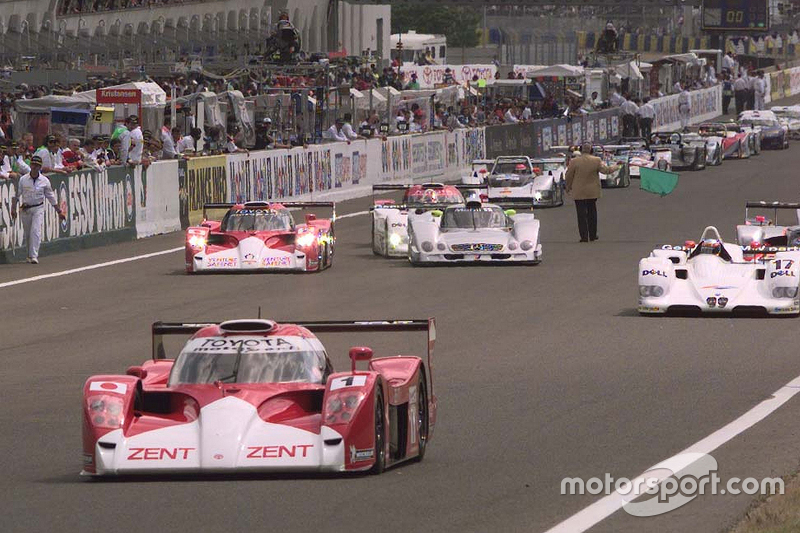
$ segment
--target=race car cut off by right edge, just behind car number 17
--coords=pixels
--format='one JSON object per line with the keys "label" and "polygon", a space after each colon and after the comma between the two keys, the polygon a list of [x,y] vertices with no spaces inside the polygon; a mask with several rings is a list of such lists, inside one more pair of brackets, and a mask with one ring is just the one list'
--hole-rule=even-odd
{"label": "race car cut off by right edge, just behind car number 17", "polygon": [[[772,218],[753,215],[752,211],[771,211]],[[794,211],[794,223],[779,225],[778,213]],[[800,246],[800,203],[747,202],[744,205],[744,224],[736,226],[736,241],[741,246]]]}

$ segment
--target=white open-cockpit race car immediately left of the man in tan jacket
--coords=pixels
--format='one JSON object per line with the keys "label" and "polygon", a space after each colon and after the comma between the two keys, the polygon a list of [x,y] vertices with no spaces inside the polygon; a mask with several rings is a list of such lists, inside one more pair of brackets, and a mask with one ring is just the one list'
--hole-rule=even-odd
{"label": "white open-cockpit race car immediately left of the man in tan jacket", "polygon": [[[480,165],[485,162],[478,160]],[[500,156],[490,171],[475,170],[462,178],[462,184],[485,188],[488,200],[504,207],[556,207],[564,205],[565,173],[563,157]]]}

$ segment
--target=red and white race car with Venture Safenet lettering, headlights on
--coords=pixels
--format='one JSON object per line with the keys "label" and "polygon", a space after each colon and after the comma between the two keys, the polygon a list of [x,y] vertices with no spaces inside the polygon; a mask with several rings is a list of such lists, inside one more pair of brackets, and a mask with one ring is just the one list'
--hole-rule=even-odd
{"label": "red and white race car with Venture Safenet lettering, headlights on", "polygon": [[[330,219],[307,213],[295,224],[290,209],[329,207]],[[212,209],[225,209],[221,221]],[[186,272],[319,272],[333,264],[336,206],[332,202],[206,204],[203,222],[186,230]]]}

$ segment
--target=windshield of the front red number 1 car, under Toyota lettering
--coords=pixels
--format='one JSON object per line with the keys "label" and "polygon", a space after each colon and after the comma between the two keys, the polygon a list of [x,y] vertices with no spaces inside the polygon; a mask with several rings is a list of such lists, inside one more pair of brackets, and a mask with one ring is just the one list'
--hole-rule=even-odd
{"label": "windshield of the front red number 1 car, under Toyota lettering", "polygon": [[169,385],[202,383],[324,383],[325,352],[300,337],[203,337],[190,340]]}

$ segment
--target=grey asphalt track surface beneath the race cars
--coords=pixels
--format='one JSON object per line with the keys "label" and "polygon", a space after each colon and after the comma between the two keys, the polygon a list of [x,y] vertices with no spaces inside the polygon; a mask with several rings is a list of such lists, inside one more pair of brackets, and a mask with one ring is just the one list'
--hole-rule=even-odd
{"label": "grey asphalt track surface beneath the race cars", "polygon": [[[578,243],[572,202],[539,210],[535,267],[412,268],[373,256],[369,219],[337,226],[322,274],[187,276],[182,253],[3,282],[182,245],[172,234],[0,269],[0,530],[544,531],[598,499],[565,476],[634,477],[713,433],[800,375],[800,319],[637,316],[638,260],[697,239],[733,240],[746,200],[798,200],[800,143],[681,174],[665,198],[604,192],[600,240]],[[344,202],[363,211],[368,199]],[[81,468],[81,390],[149,357],[156,320],[435,316],[439,423],[425,460],[382,476],[94,481]],[[422,335],[322,336],[421,354]],[[717,449],[719,475],[797,466],[800,399]],[[747,495],[703,496],[666,515],[619,511],[591,531],[719,531]]]}

